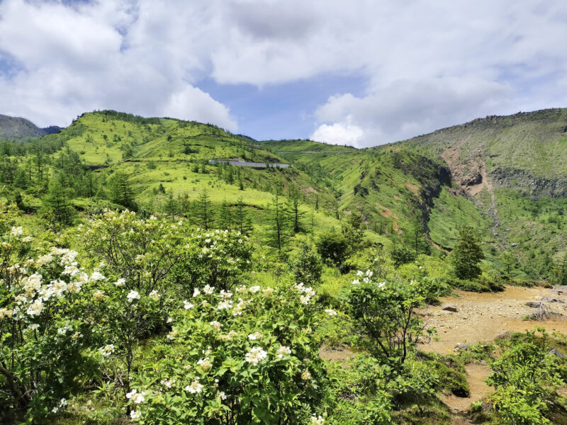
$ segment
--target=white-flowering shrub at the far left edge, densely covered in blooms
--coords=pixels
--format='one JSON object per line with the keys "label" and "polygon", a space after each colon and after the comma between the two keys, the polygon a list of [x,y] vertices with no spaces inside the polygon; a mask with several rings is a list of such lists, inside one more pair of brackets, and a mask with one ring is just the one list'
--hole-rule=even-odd
{"label": "white-flowering shrub at the far left edge, densely covered in blooms", "polygon": [[91,317],[83,292],[91,277],[76,251],[28,258],[31,242],[21,227],[1,237],[0,374],[13,406],[45,418],[67,405],[62,397],[83,373]]}

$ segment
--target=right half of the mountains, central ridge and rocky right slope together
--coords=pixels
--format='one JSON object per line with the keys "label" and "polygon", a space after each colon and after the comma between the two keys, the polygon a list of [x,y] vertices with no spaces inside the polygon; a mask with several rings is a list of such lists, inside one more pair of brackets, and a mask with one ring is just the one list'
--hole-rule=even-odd
{"label": "right half of the mountains, central ridge and rocky right slope together", "polygon": [[370,149],[308,140],[262,147],[337,189],[339,210],[378,232],[427,226],[450,250],[471,225],[489,256],[512,251],[529,276],[567,252],[567,109],[490,116]]}

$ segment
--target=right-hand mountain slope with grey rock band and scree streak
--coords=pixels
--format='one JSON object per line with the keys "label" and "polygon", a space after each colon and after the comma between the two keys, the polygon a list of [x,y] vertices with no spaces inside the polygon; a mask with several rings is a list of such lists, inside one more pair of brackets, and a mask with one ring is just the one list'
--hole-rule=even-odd
{"label": "right-hand mountain slope with grey rock band and scree streak", "polygon": [[500,222],[498,244],[539,271],[548,256],[558,260],[567,252],[567,202],[561,198],[567,185],[566,129],[567,109],[550,109],[473,120],[375,149],[406,147],[439,158],[456,147],[455,168],[483,163],[489,179],[502,170],[493,182],[494,202],[488,189],[475,202]]}

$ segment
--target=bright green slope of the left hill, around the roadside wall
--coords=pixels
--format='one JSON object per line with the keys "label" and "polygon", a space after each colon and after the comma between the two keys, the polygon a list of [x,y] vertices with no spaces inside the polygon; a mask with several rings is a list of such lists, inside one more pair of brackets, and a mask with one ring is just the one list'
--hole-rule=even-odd
{"label": "bright green slope of the left hill, around the roadside wall", "polygon": [[[106,135],[106,139],[104,137]],[[209,159],[245,159],[252,162],[286,162],[260,149],[248,137],[232,135],[212,125],[162,118],[159,123],[137,123],[104,113],[86,113],[72,126],[62,130],[69,147],[79,153],[84,164],[108,165],[96,172],[109,176],[120,171],[129,176],[137,202],[148,210],[163,210],[167,195],[157,191],[160,185],[174,196],[186,195],[195,200],[206,189],[210,200],[230,204],[242,196],[254,224],[266,225],[267,208],[274,188],[281,182],[283,191],[291,184],[303,192],[304,227],[315,229],[339,227],[339,222],[325,210],[332,211],[335,197],[328,188],[318,185],[303,171],[289,169],[252,169],[208,164]],[[130,151],[127,159],[125,152]],[[185,153],[188,152],[188,153]],[[206,165],[204,165],[206,164]],[[205,172],[203,172],[203,165]],[[198,171],[194,168],[198,167]],[[234,183],[226,183],[220,174],[228,168]],[[239,176],[244,190],[239,188]],[[320,209],[315,211],[315,197]]]}

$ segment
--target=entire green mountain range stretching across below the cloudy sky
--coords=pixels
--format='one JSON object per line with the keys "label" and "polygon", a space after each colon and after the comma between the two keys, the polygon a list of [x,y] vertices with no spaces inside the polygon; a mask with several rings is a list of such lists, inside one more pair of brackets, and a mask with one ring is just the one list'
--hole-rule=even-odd
{"label": "entire green mountain range stretching across below the cloudy sky", "polygon": [[[206,191],[218,208],[242,198],[254,224],[267,228],[276,192],[288,203],[298,191],[303,227],[313,232],[339,230],[360,212],[374,242],[411,245],[425,232],[444,255],[468,225],[489,263],[500,267],[508,251],[522,265],[520,277],[537,279],[567,252],[566,128],[567,110],[553,109],[355,149],[261,142],[214,125],[98,111],[38,143],[53,152],[52,164],[61,161],[53,173],[65,166],[57,159],[61,147],[93,171],[96,184],[78,177],[65,183],[79,197],[111,199],[110,182],[122,174],[142,209],[167,212],[175,200],[187,214]],[[90,208],[91,201],[76,205]]]}

